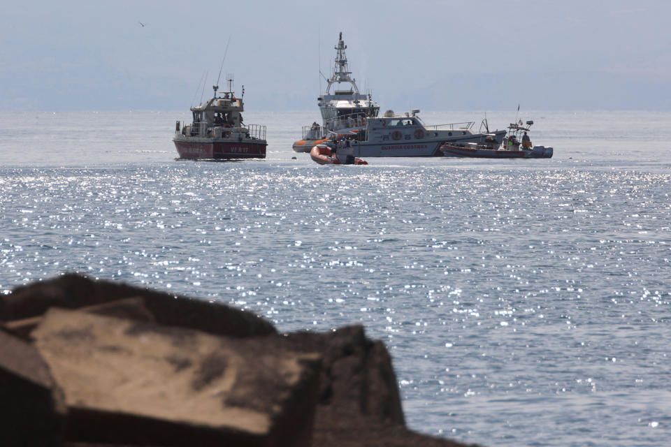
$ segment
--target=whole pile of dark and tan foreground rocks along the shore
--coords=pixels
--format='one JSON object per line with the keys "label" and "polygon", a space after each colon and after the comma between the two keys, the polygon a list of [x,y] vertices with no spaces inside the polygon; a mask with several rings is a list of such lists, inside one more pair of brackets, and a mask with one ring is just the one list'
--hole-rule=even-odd
{"label": "whole pile of dark and tan foreground rocks along the shore", "polygon": [[360,326],[278,335],[250,312],[75,274],[0,296],[0,318],[0,397],[24,402],[0,413],[23,421],[1,446],[461,445],[407,430],[389,353]]}

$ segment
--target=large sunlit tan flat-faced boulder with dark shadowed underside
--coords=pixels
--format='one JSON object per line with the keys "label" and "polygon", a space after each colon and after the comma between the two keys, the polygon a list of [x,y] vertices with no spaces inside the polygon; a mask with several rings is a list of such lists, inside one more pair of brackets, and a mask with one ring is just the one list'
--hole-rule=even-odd
{"label": "large sunlit tan flat-faced boulder with dark shadowed underside", "polygon": [[63,390],[69,439],[310,445],[316,354],[61,309],[31,335]]}

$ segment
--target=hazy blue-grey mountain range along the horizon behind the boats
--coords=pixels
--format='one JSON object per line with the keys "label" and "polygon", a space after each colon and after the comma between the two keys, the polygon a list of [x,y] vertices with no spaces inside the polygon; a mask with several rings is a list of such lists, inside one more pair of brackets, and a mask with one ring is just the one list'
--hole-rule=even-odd
{"label": "hazy blue-grey mountain range along the horizon behind the boats", "polygon": [[[247,82],[247,110],[317,112],[319,91],[298,80],[283,88]],[[517,104],[526,110],[671,110],[670,82],[605,71],[447,74],[431,85],[402,89],[395,82],[375,82],[373,98],[382,110],[512,110]],[[0,72],[0,110],[187,110],[211,94],[210,85],[196,91],[193,83],[169,74],[138,77],[108,70],[101,78],[92,68],[48,77]]]}

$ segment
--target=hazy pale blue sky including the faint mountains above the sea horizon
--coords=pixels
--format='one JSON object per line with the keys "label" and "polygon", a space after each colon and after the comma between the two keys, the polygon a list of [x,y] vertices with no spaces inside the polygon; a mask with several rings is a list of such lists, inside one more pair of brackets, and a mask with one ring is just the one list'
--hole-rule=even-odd
{"label": "hazy pale blue sky including the faint mountains above the sea horizon", "polygon": [[10,2],[0,110],[187,110],[222,61],[247,110],[316,110],[340,31],[382,110],[671,110],[670,19],[661,0]]}

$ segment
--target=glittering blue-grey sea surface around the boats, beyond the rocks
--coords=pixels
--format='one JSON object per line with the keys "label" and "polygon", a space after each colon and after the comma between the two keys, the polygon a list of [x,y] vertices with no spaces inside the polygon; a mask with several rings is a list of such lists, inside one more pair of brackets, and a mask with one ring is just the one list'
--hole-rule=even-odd
{"label": "glittering blue-grey sea surface around the boats, beyond the rocks", "polygon": [[551,159],[291,149],[317,110],[253,112],[264,160],[178,161],[188,111],[0,112],[0,293],[63,272],[255,312],[363,325],[407,425],[482,446],[671,439],[671,113],[533,119]]}

